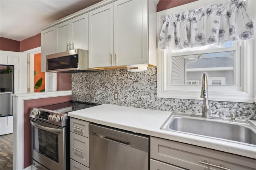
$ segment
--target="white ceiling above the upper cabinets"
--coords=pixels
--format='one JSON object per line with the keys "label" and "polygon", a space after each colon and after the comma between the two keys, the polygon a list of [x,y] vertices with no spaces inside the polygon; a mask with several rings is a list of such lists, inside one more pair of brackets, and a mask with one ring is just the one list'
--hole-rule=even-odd
{"label": "white ceiling above the upper cabinets", "polygon": [[0,37],[22,41],[100,0],[0,0]]}

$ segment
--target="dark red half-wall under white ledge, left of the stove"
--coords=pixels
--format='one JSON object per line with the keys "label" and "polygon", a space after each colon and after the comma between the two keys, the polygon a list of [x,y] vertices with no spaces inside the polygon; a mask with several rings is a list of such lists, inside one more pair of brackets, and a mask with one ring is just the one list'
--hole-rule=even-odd
{"label": "dark red half-wall under white ledge, left of the stove", "polygon": [[58,104],[58,103],[68,102],[70,100],[71,100],[71,96],[24,100],[24,165],[23,165],[23,168],[27,168],[28,166],[31,165],[30,123],[29,123],[30,108],[47,106],[51,104]]}

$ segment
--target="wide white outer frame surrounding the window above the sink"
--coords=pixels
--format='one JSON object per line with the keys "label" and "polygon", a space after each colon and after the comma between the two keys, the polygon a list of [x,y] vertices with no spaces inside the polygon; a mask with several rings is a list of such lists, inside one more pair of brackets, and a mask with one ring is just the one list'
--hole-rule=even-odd
{"label": "wide white outer frame surrounding the window above the sink", "polygon": [[[162,29],[162,17],[170,14],[177,14],[180,11],[186,11],[190,9],[198,9],[207,5],[216,4],[220,2],[227,2],[227,0],[218,1],[208,1],[208,0],[198,0],[196,2],[191,2],[182,6],[175,8],[170,8],[161,12],[157,12],[157,36],[159,38],[160,31]],[[247,13],[256,23],[256,15],[254,10],[256,7],[256,2],[247,2]],[[254,27],[255,30],[255,27]],[[256,57],[254,57],[256,49],[256,32],[254,31],[254,39],[247,41],[240,41],[238,46],[241,46],[241,84],[236,90],[230,90],[227,87],[230,86],[215,86],[210,88],[208,86],[209,100],[213,101],[227,101],[227,102],[246,102],[253,103],[256,101],[256,68],[253,64],[256,64]],[[233,48],[233,47],[231,47]],[[171,50],[170,50],[171,51]],[[182,53],[192,53],[182,52]],[[168,79],[168,74],[170,74],[170,67],[168,68],[168,61],[170,59],[170,53],[167,49],[158,50],[158,67],[157,67],[157,97],[158,98],[177,98],[177,99],[192,99],[192,100],[202,100],[200,98],[201,86],[199,85],[168,85],[170,84],[170,78]],[[171,65],[171,64],[170,64]],[[169,76],[170,77],[170,76]]]}

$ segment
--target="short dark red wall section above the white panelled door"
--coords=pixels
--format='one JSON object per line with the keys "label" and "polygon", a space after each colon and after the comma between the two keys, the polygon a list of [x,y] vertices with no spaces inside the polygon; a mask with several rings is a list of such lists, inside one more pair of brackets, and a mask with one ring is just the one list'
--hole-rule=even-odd
{"label": "short dark red wall section above the white panelled door", "polygon": [[20,52],[20,41],[0,37],[0,50]]}

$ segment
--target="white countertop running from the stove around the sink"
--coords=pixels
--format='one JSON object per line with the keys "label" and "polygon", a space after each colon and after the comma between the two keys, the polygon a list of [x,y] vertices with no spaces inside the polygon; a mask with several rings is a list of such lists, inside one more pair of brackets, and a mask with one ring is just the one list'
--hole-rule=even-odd
{"label": "white countertop running from the stove around the sink", "polygon": [[[160,129],[171,113],[171,111],[102,104],[71,111],[68,116],[135,133],[256,158],[256,146]],[[256,121],[251,122],[255,124]]]}

